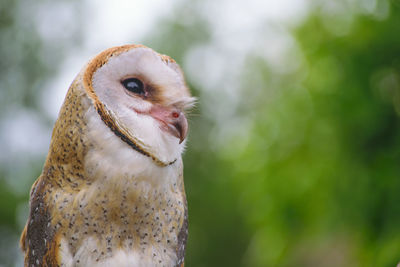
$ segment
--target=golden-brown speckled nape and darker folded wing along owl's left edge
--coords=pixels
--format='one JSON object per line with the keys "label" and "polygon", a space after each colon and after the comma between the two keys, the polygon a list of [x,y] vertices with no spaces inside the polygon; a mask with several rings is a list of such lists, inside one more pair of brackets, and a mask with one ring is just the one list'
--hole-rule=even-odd
{"label": "golden-brown speckled nape and darker folded wing along owl's left edge", "polygon": [[[57,266],[57,229],[54,213],[57,191],[73,192],[86,183],[82,161],[87,152],[81,94],[73,84],[60,111],[42,175],[31,189],[30,214],[21,236],[26,266]],[[84,141],[85,140],[85,141]],[[53,201],[51,201],[53,200]]]}

